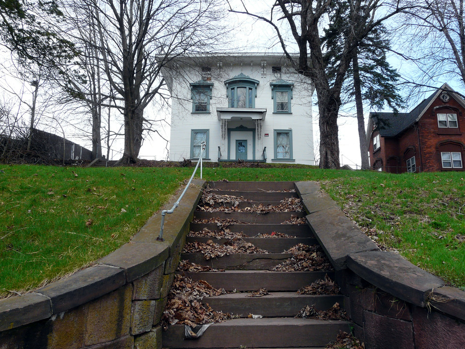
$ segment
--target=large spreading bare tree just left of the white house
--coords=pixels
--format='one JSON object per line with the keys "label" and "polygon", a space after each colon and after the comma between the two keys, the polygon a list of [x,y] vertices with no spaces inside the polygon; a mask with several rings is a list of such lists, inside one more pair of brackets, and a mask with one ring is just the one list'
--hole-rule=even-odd
{"label": "large spreading bare tree just left of the white house", "polygon": [[[74,0],[67,11],[85,21],[76,36],[91,48],[86,64],[102,69],[108,86],[94,90],[96,106],[114,107],[124,119],[124,155],[135,162],[144,132],[153,130],[145,108],[165,85],[160,70],[173,58],[211,48],[221,40],[219,9],[212,0]],[[109,95],[109,90],[114,96]],[[78,91],[78,90],[77,90]],[[83,91],[78,91],[81,94]],[[83,98],[95,95],[83,94]],[[113,101],[113,104],[110,103]],[[96,126],[97,127],[97,126]]]}

